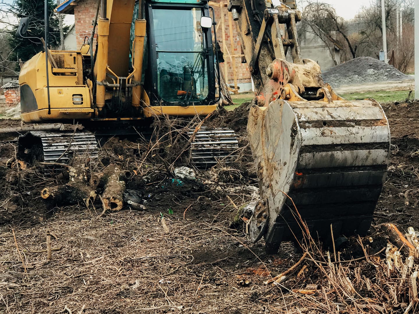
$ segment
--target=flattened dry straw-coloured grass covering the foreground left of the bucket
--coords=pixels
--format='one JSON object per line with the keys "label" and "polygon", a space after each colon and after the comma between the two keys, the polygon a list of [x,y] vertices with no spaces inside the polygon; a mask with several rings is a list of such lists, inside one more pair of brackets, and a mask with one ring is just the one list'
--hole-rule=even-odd
{"label": "flattened dry straw-coloured grass covering the foreground left of the bucket", "polygon": [[[67,306],[73,313],[149,313],[188,311],[214,313],[241,309],[258,311],[249,302],[265,288],[253,270],[264,269],[256,256],[269,259],[261,247],[256,256],[240,242],[243,234],[213,222],[213,214],[196,221],[122,211],[96,219],[88,212],[62,211],[31,228],[3,227],[0,241],[0,299],[14,313],[56,313]],[[47,260],[46,232],[52,241]],[[239,240],[239,241],[238,241]],[[284,265],[285,267],[287,265]],[[25,271],[26,269],[26,271]],[[239,276],[252,285],[237,285]],[[146,311],[145,309],[139,312]]]}

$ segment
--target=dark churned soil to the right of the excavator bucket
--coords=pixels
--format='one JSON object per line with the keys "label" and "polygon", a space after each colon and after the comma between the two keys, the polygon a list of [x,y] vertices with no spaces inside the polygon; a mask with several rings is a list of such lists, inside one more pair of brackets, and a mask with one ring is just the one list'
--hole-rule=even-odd
{"label": "dark churned soil to the right of the excavator bucket", "polygon": [[387,179],[375,210],[375,224],[396,223],[418,230],[419,103],[385,103],[391,131]]}

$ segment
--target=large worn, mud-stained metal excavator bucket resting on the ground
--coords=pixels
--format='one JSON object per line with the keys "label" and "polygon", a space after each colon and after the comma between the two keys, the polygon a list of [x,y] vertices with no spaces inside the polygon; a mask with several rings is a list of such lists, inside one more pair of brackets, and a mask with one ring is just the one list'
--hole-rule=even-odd
{"label": "large worn, mud-stained metal excavator bucket resting on the ground", "polygon": [[[390,129],[375,100],[253,105],[248,137],[261,200],[250,234],[282,241],[367,233],[385,180]],[[303,224],[304,222],[304,224]]]}

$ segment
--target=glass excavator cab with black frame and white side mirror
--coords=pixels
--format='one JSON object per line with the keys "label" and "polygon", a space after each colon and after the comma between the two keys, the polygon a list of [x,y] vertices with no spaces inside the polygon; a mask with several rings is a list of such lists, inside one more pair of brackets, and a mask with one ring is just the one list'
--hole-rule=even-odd
{"label": "glass excavator cab with black frame and white side mirror", "polygon": [[163,106],[213,105],[216,59],[212,18],[204,3],[147,5],[151,102]]}

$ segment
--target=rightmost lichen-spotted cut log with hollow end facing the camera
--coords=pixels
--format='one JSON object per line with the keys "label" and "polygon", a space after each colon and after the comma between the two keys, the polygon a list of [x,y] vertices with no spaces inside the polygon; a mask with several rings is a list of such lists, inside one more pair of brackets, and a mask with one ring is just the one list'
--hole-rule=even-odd
{"label": "rightmost lichen-spotted cut log with hollow end facing the camera", "polygon": [[103,180],[106,175],[109,177],[102,195],[103,203],[106,210],[119,211],[124,205],[125,182],[131,178],[131,172],[122,171],[118,165],[112,164],[106,167]]}

